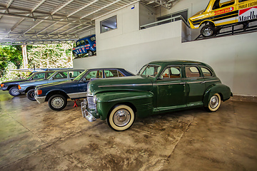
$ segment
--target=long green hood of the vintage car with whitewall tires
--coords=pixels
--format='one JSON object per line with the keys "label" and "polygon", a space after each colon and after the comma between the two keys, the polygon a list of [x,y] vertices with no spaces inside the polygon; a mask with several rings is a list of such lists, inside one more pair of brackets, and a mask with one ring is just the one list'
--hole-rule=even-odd
{"label": "long green hood of the vintage car with whitewall tires", "polygon": [[89,95],[114,90],[151,91],[153,89],[153,78],[144,76],[129,76],[122,78],[106,78],[94,80],[89,82],[88,89]]}

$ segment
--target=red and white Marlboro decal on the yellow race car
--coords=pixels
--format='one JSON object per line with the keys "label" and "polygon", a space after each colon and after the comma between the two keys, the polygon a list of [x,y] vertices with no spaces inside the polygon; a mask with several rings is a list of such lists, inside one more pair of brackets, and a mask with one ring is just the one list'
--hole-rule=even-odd
{"label": "red and white Marlboro decal on the yellow race car", "polygon": [[[249,3],[251,4],[251,3]],[[257,19],[257,6],[248,9],[241,9],[238,13],[238,22]]]}

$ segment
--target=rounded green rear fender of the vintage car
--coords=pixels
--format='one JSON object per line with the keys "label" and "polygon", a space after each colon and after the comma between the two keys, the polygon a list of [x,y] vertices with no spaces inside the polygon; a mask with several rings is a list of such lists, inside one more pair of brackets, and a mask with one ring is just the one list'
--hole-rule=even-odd
{"label": "rounded green rear fender of the vintage car", "polygon": [[214,95],[215,93],[220,94],[221,100],[223,101],[228,100],[232,94],[231,89],[222,83],[211,85],[207,88],[206,92],[203,95],[203,105],[205,107],[208,106],[208,102],[211,99],[211,96]]}

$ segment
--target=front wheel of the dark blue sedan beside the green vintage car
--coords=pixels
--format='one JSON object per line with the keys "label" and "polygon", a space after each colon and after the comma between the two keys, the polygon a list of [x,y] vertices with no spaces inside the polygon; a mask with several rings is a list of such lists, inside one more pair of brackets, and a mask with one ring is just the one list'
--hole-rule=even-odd
{"label": "front wheel of the dark blue sedan beside the green vintage car", "polygon": [[52,95],[48,103],[51,110],[63,110],[67,105],[67,98],[64,95]]}

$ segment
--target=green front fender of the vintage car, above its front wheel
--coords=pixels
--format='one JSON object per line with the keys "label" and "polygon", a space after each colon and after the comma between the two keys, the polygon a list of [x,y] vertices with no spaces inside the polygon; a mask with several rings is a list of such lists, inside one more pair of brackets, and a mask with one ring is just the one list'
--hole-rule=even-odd
{"label": "green front fender of the vintage car, above its front wheel", "polygon": [[111,91],[96,94],[97,113],[105,120],[116,105],[129,105],[139,118],[153,113],[153,93],[148,91]]}

